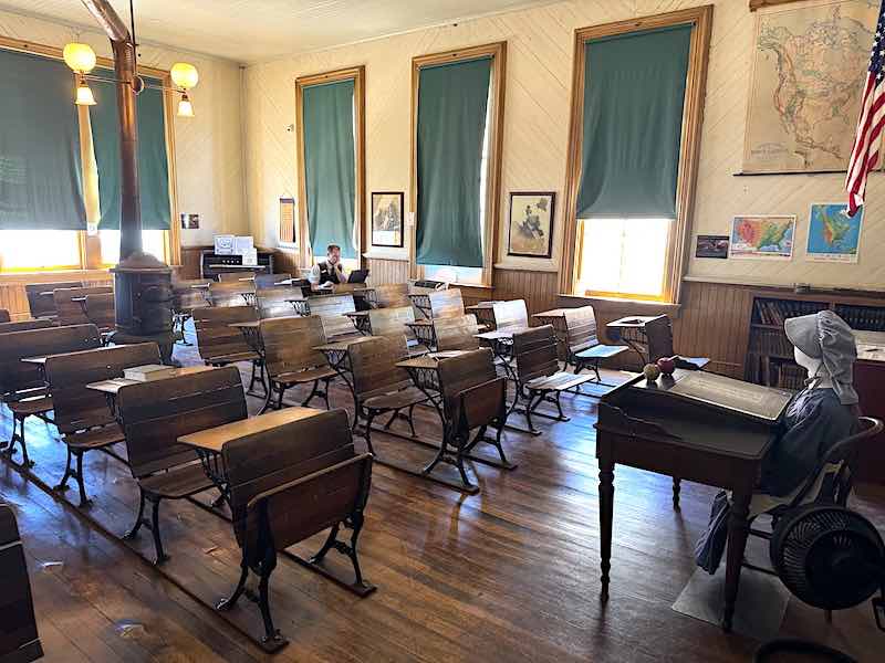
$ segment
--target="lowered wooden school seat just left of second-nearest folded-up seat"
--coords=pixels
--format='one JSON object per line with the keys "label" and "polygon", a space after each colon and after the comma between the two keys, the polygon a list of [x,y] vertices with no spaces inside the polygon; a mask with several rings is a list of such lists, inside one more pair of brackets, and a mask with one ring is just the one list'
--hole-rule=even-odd
{"label": "lowered wooden school seat just left of second-nearest folded-up seat", "polygon": [[415,406],[427,402],[428,397],[414,387],[405,369],[396,366],[408,357],[406,337],[369,338],[351,346],[351,370],[353,391],[356,401],[356,424],[365,420],[365,439],[368,451],[372,448],[372,423],[376,417],[392,413],[386,428],[396,420],[402,410],[407,410],[407,421],[415,436],[413,419]]}

